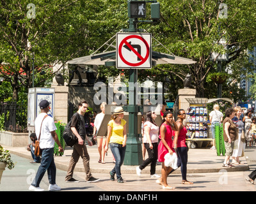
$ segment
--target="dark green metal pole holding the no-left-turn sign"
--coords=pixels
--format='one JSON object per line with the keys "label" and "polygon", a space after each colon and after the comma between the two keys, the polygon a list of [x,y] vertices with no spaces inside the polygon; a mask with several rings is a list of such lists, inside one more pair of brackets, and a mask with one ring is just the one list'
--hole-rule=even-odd
{"label": "dark green metal pole holding the no-left-turn sign", "polygon": [[[143,6],[146,9],[146,2],[155,3],[153,7],[151,6],[151,13],[154,14],[154,20],[157,20],[157,15],[153,11],[158,11],[159,7],[155,8],[154,6],[159,6],[157,1],[133,1],[130,0],[128,4],[128,16],[129,16],[129,29],[124,29],[129,33],[136,33],[142,31],[142,29],[137,28],[138,22],[152,22],[149,20],[138,20],[138,17],[146,17],[145,11],[143,15],[140,13],[140,6]],[[157,12],[159,13],[159,12]],[[141,142],[138,135],[138,112],[143,112],[143,106],[138,106],[138,101],[136,101],[136,90],[138,90],[138,69],[130,68],[129,74],[129,105],[124,106],[124,110],[129,112],[129,132],[127,134],[126,142],[126,154],[124,157],[124,165],[139,165],[142,163],[142,149]]]}

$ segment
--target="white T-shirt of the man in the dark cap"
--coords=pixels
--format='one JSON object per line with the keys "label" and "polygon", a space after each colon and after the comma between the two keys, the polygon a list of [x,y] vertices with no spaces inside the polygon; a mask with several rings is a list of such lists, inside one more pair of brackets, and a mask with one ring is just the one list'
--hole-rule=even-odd
{"label": "white T-shirt of the man in the dark cap", "polygon": [[[41,130],[41,136],[40,136],[40,148],[41,149],[54,147],[55,141],[51,135],[51,131],[54,131],[57,129],[52,117],[48,115],[44,119],[45,115],[46,115],[46,113],[40,113],[35,119],[35,131],[36,131],[37,138],[40,135],[40,128],[41,128],[41,124],[42,124],[42,130]],[[44,119],[44,122],[42,123],[43,119]]]}

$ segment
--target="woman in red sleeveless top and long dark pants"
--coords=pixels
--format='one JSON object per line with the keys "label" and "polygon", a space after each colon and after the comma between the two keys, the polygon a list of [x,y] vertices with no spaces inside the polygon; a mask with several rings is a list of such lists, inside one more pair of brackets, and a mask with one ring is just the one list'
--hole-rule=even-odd
{"label": "woman in red sleeveless top and long dark pants", "polygon": [[[180,167],[182,174],[182,184],[193,184],[187,180],[187,163],[188,163],[188,146],[186,145],[187,129],[183,125],[183,120],[186,119],[186,113],[183,109],[178,111],[178,120],[176,121],[178,130],[175,132],[173,141],[173,149],[175,150],[178,161],[177,166]],[[172,172],[171,172],[172,173]]]}

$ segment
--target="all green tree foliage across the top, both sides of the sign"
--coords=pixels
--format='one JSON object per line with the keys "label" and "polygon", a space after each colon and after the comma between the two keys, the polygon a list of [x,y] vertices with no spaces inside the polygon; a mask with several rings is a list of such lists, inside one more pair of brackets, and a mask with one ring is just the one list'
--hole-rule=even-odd
{"label": "all green tree foliage across the top, both sides of the sign", "polygon": [[[216,90],[212,90],[214,83],[207,80],[207,75],[218,72],[216,59],[211,59],[211,53],[223,54],[226,51],[218,44],[221,38],[227,41],[229,48],[229,60],[223,62],[222,70],[237,82],[242,67],[243,73],[250,73],[244,50],[256,45],[255,0],[227,1],[228,18],[219,18],[220,2],[159,1],[160,22],[138,24],[138,28],[156,38],[157,41],[152,41],[154,51],[168,52],[167,48],[175,55],[195,60],[196,64],[162,64],[150,70],[139,70],[140,82],[146,78],[164,82],[167,76],[168,98],[173,100],[177,90],[182,88],[186,74],[190,73],[198,97],[216,95]],[[0,75],[11,83],[8,87],[12,87],[11,96],[10,90],[0,91],[0,96],[7,100],[10,97],[19,100],[22,96],[17,93],[28,92],[32,87],[33,53],[35,87],[49,86],[55,75],[52,66],[92,54],[122,28],[128,27],[127,1],[35,0],[35,18],[28,18],[29,8],[26,6],[29,3],[28,0],[0,2],[0,62],[4,62],[0,65]],[[158,41],[166,48],[159,46]],[[104,50],[101,48],[99,52]],[[99,68],[99,75],[104,77],[115,77],[120,72],[128,78],[127,70]],[[223,86],[230,83],[226,80]]]}

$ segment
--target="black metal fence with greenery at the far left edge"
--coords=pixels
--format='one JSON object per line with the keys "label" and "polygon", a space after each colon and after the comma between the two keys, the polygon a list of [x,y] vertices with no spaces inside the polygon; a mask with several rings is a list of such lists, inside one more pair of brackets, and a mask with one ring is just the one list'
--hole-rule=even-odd
{"label": "black metal fence with greenery at the far left edge", "polygon": [[15,133],[27,133],[28,104],[0,102],[0,129]]}

